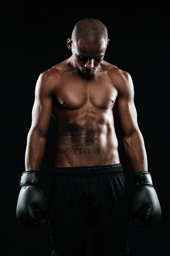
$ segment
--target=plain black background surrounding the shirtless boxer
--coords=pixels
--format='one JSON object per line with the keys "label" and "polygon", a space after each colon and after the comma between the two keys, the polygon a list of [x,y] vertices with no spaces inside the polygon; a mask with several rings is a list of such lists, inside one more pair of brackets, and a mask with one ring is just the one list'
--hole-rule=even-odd
{"label": "plain black background surrounding the shirtless boxer", "polygon": [[[26,137],[31,126],[35,83],[41,72],[71,56],[66,40],[71,37],[73,26],[82,18],[92,17],[104,22],[108,28],[110,43],[104,59],[132,76],[138,124],[162,209],[161,220],[153,228],[136,228],[130,218],[131,255],[166,256],[170,241],[170,16],[137,11],[135,14],[128,11],[102,13],[101,10],[65,12],[56,6],[42,3],[35,7],[25,3],[23,7],[7,3],[1,9],[1,255],[51,254],[48,227],[40,230],[21,227],[15,213],[19,177],[24,171]],[[133,171],[126,157],[118,119],[116,130],[130,197],[134,189]],[[42,186],[47,192],[55,150],[54,136],[55,121],[51,119],[41,168]],[[90,249],[89,233],[87,256],[90,256]]]}

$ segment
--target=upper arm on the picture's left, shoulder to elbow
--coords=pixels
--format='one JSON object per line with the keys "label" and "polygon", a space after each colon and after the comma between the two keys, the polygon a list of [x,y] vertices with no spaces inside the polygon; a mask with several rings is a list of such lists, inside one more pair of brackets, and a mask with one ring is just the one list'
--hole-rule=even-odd
{"label": "upper arm on the picture's left, shoulder to elbow", "polygon": [[40,74],[35,86],[31,131],[46,134],[53,110],[53,85],[46,72]]}

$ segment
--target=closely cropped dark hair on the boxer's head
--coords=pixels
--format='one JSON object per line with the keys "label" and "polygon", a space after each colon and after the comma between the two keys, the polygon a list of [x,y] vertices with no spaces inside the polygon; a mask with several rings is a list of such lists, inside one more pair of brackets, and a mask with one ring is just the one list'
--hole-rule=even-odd
{"label": "closely cropped dark hair on the boxer's head", "polygon": [[84,40],[87,45],[95,45],[103,38],[108,42],[108,31],[106,25],[95,18],[84,18],[79,20],[72,31],[72,41],[78,42],[80,38]]}

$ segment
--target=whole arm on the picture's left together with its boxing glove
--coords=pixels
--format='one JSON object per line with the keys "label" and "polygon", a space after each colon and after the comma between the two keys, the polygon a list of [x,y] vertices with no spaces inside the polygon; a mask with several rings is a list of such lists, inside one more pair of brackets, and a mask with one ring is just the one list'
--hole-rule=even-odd
{"label": "whole arm on the picture's left together with its boxing glove", "polygon": [[52,113],[53,88],[46,72],[38,78],[28,133],[25,171],[20,175],[20,193],[16,208],[18,222],[26,227],[41,228],[48,223],[50,201],[40,186],[40,165],[44,156],[46,133]]}

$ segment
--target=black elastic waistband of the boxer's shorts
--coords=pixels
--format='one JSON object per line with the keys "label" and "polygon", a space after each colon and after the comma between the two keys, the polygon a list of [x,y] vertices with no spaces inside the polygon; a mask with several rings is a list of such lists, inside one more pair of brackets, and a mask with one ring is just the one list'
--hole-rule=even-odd
{"label": "black elastic waistband of the boxer's shorts", "polygon": [[93,176],[93,175],[106,175],[122,173],[123,167],[119,164],[98,165],[98,166],[80,166],[80,167],[53,167],[52,175],[80,175],[80,176]]}

